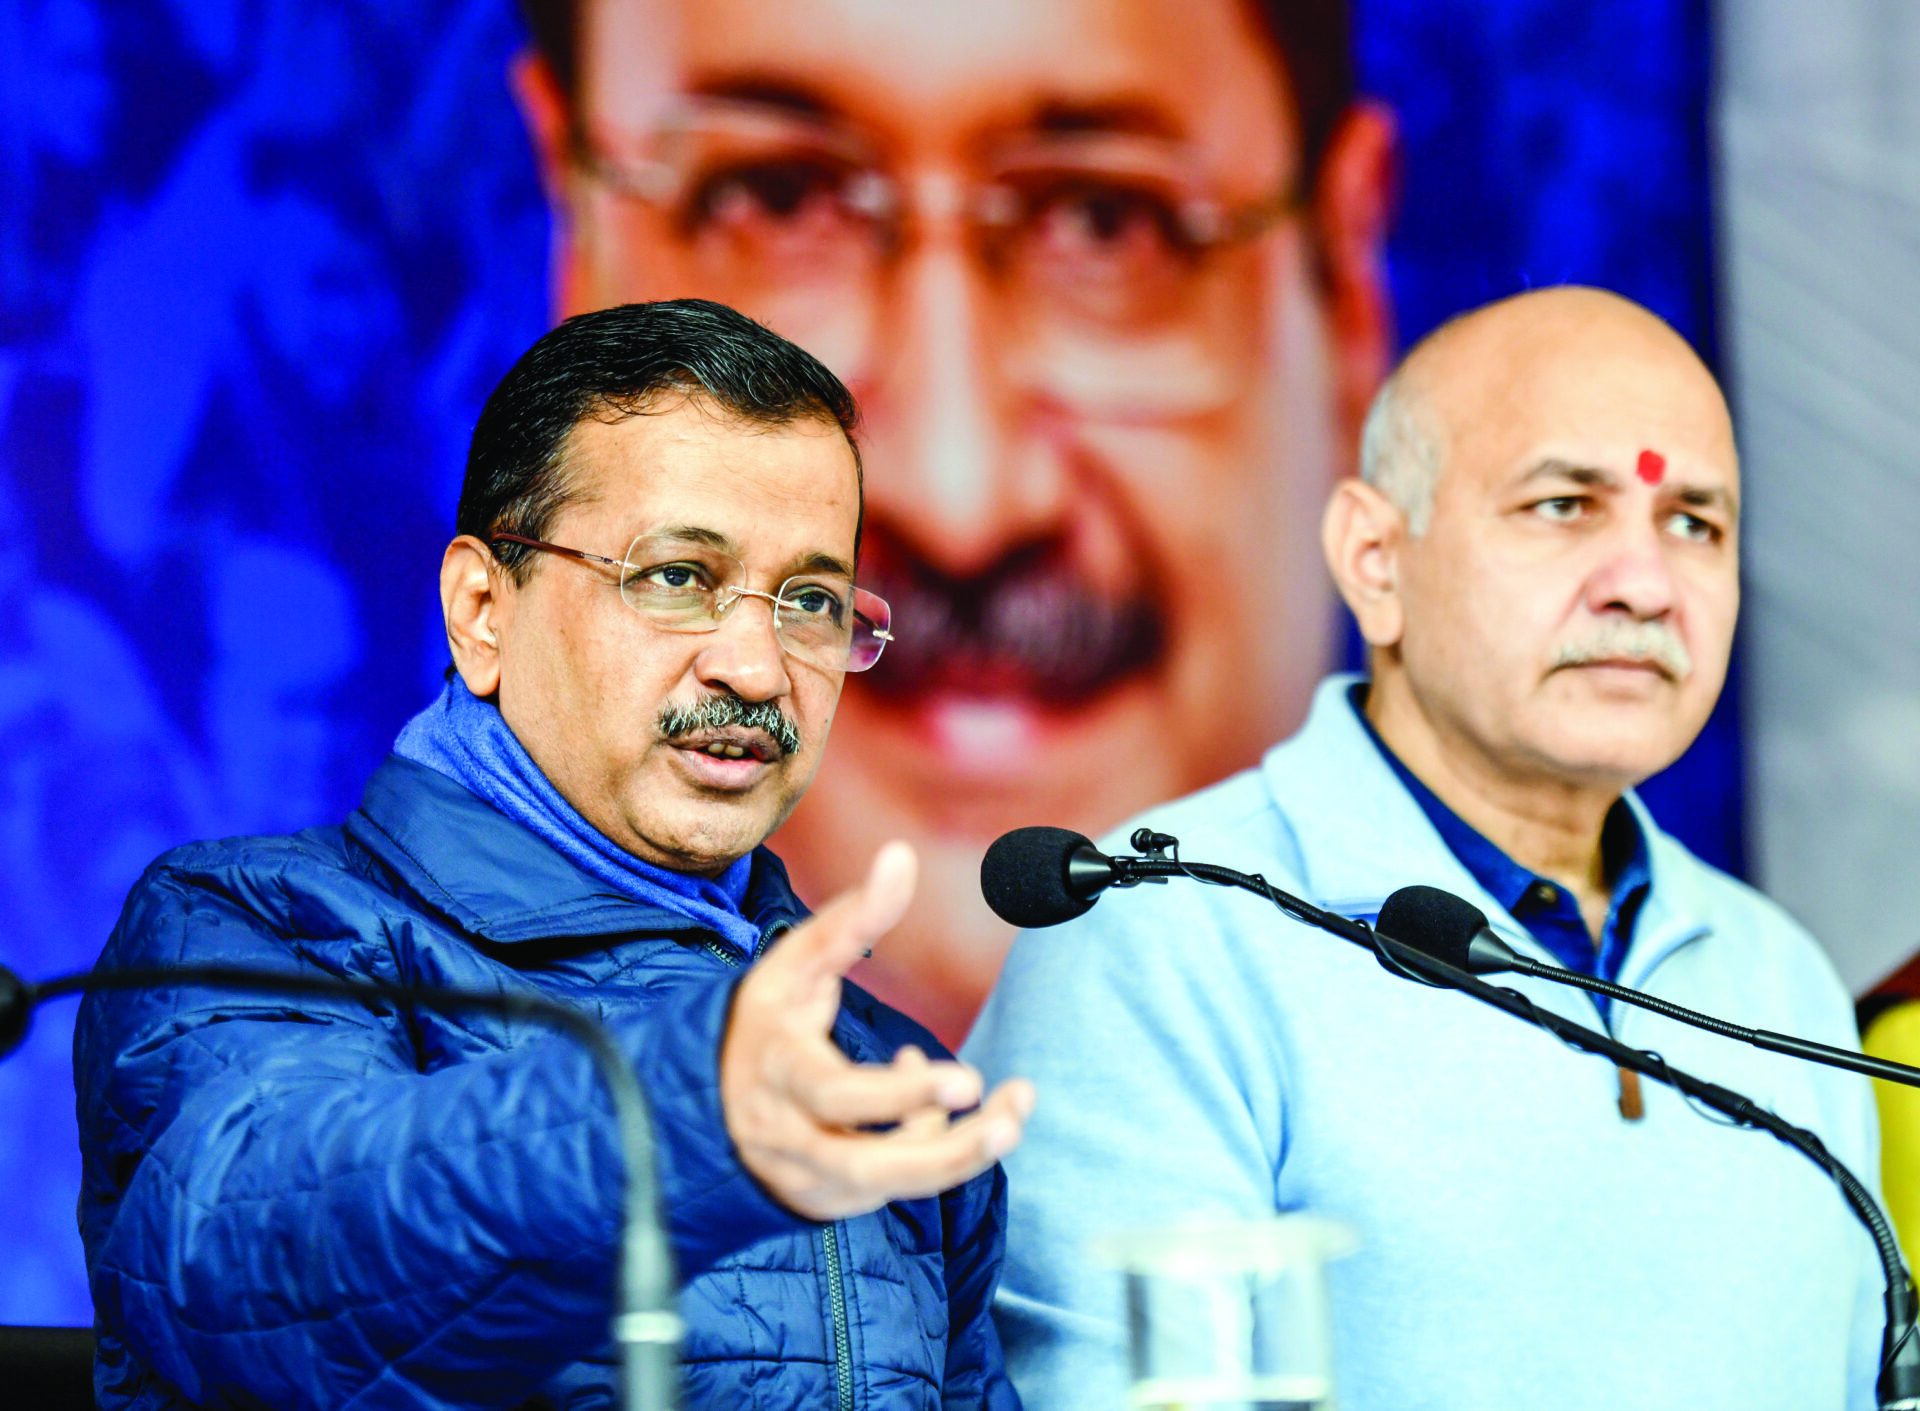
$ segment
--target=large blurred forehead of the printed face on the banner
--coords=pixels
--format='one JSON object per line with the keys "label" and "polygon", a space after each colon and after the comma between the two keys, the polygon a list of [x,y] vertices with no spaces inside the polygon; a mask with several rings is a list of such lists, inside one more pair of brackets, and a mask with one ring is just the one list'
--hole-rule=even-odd
{"label": "large blurred forehead of the printed face on the banner", "polygon": [[676,92],[799,92],[897,142],[964,140],[1052,106],[1277,165],[1292,104],[1244,0],[586,0],[582,100],[645,127]]}

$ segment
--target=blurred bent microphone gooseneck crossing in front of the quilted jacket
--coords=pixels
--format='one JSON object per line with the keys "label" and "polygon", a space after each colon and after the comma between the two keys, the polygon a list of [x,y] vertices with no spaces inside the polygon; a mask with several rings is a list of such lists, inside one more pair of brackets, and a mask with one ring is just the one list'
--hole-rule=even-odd
{"label": "blurred bent microphone gooseneck crossing in front of the quilted jacket", "polygon": [[538,994],[484,994],[434,985],[390,985],[319,975],[288,975],[240,966],[96,969],[31,985],[0,966],[0,1058],[27,1033],[33,1010],[46,1000],[86,991],[138,991],[200,985],[248,994],[324,996],[419,1004],[526,1019],[559,1029],[588,1050],[612,1098],[626,1163],[620,1236],[620,1294],[612,1338],[620,1348],[622,1405],[628,1411],[674,1411],[680,1405],[682,1321],[674,1307],[672,1250],[660,1221],[659,1173],[653,1161],[653,1117],[626,1054],[591,1016]]}

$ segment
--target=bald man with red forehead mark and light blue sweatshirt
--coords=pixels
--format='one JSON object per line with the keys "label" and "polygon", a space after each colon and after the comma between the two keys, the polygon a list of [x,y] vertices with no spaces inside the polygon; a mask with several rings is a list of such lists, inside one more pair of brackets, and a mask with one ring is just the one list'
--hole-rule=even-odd
{"label": "bald man with red forehead mark and light blue sweatshirt", "polygon": [[[1667,324],[1578,288],[1467,315],[1388,380],[1327,507],[1367,678],[1135,822],[1346,916],[1444,887],[1536,960],[1853,1044],[1814,941],[1632,795],[1720,693],[1738,526],[1726,403]],[[1872,1171],[1862,1081],[1515,989]],[[1878,1269],[1803,1156],[1244,893],[1140,887],[1020,937],[968,1054],[1046,1098],[996,1305],[1037,1411],[1121,1405],[1091,1236],[1296,1209],[1361,1240],[1332,1275],[1346,1411],[1872,1405]]]}

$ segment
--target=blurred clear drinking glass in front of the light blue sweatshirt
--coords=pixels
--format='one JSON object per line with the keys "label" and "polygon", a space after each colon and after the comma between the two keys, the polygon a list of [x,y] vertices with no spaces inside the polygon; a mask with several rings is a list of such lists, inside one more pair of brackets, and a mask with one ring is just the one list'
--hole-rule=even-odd
{"label": "blurred clear drinking glass in front of the light blue sweatshirt", "polygon": [[1327,1261],[1357,1240],[1275,1215],[1164,1225],[1100,1240],[1127,1280],[1133,1411],[1332,1411]]}

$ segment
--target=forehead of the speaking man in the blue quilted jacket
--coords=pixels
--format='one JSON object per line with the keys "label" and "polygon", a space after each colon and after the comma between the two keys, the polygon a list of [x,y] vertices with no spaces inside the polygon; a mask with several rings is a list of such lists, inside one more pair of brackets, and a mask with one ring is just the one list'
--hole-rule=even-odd
{"label": "forehead of the speaking man in the blue quilted jacket", "polygon": [[697,399],[618,420],[584,420],[566,438],[574,499],[568,532],[618,553],[620,536],[666,524],[714,530],[749,564],[826,553],[852,562],[860,480],[833,422],[756,426]]}

